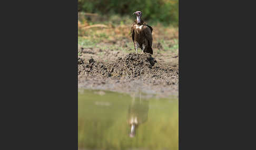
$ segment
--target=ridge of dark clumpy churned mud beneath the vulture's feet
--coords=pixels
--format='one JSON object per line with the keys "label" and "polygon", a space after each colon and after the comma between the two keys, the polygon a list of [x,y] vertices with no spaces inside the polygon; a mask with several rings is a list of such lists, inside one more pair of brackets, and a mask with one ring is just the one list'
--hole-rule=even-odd
{"label": "ridge of dark clumpy churned mud beneath the vulture's feet", "polygon": [[162,68],[149,53],[129,53],[123,58],[117,58],[113,63],[97,62],[91,58],[87,63],[78,65],[78,74],[106,77],[149,76],[164,79],[173,73],[173,70]]}

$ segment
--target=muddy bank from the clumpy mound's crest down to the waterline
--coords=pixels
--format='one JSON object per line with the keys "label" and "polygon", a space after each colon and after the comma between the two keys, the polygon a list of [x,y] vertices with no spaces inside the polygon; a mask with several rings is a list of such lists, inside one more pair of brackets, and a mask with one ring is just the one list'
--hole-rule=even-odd
{"label": "muddy bank from the clumpy mound's crest down to the waterline", "polygon": [[[164,58],[162,58],[164,59]],[[150,54],[129,53],[112,61],[78,59],[78,88],[178,96],[178,66]]]}

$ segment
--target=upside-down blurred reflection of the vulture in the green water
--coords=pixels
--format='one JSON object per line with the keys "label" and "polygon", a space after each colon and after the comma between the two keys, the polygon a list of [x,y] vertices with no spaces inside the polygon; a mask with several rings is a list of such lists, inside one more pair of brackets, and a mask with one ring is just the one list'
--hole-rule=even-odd
{"label": "upside-down blurred reflection of the vulture in the green water", "polygon": [[133,94],[127,115],[127,123],[131,127],[130,137],[134,137],[135,129],[139,127],[140,124],[147,121],[148,112],[149,101],[142,100],[141,93],[139,98],[135,98],[135,94]]}

